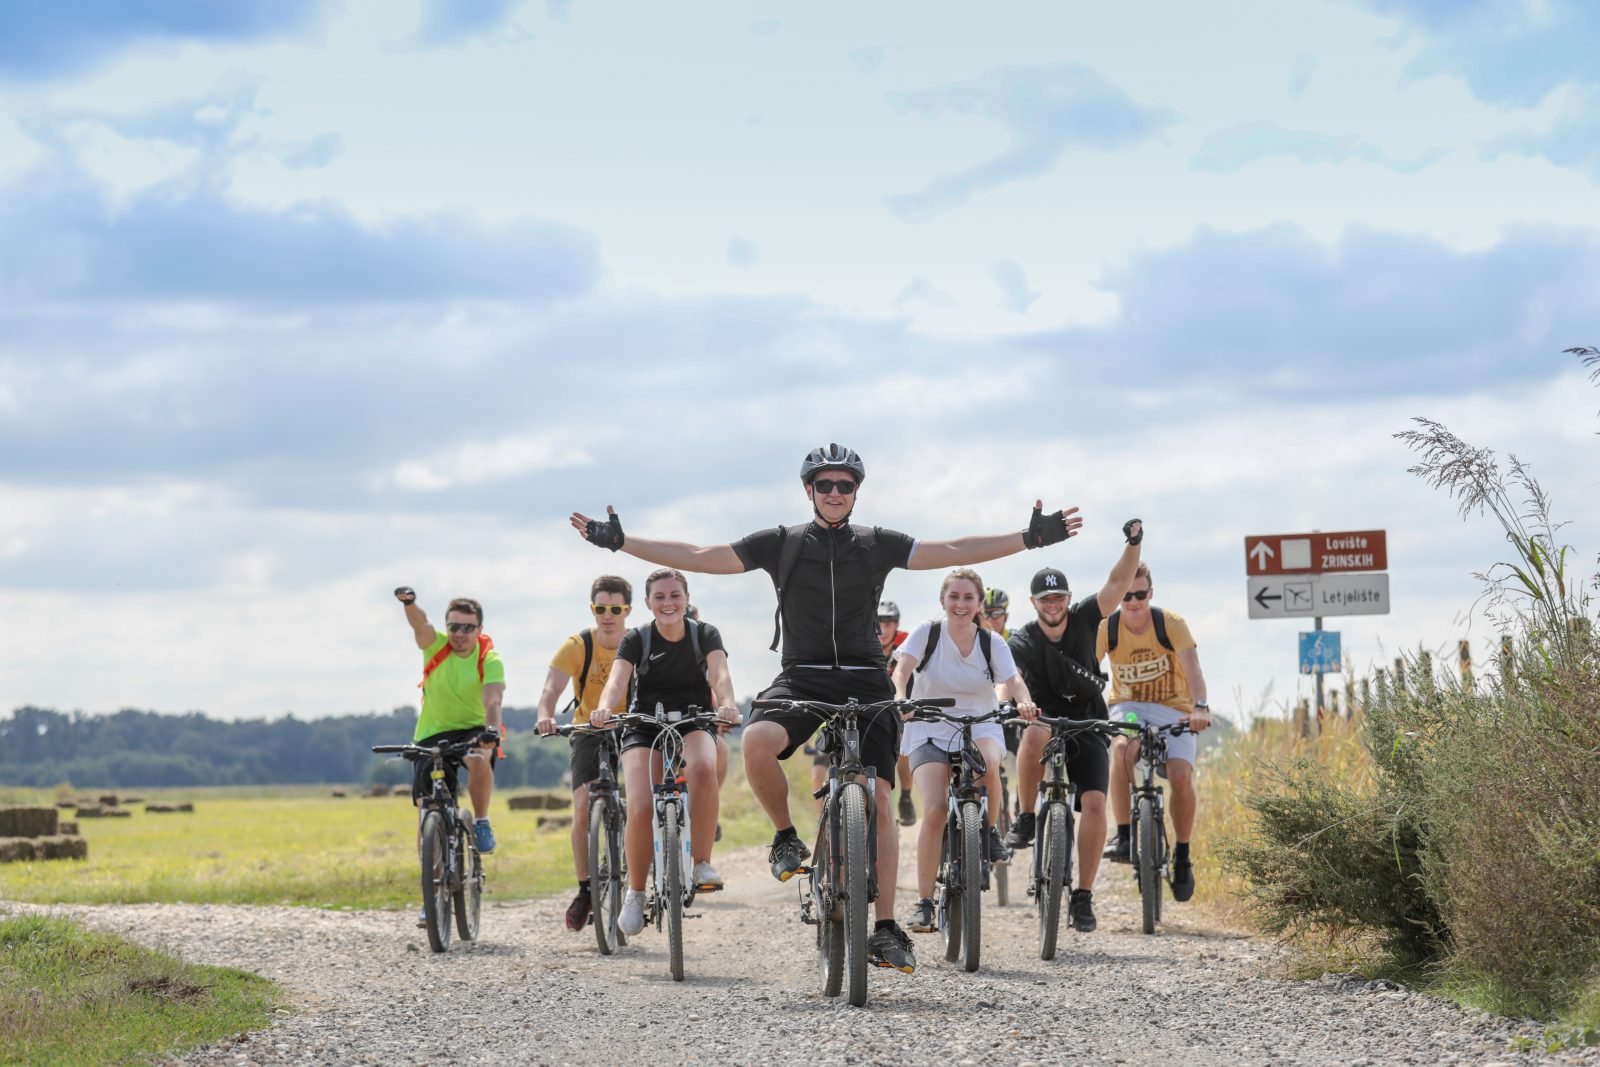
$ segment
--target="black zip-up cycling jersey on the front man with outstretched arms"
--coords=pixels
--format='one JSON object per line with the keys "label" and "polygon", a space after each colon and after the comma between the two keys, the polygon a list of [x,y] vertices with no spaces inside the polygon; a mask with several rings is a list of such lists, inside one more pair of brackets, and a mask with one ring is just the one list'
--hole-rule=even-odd
{"label": "black zip-up cycling jersey on the front man with outstretched arms", "polygon": [[[776,581],[784,530],[758,530],[733,542],[746,571]],[[811,523],[782,598],[782,665],[883,667],[878,597],[883,581],[910,563],[917,541],[878,526]]]}

